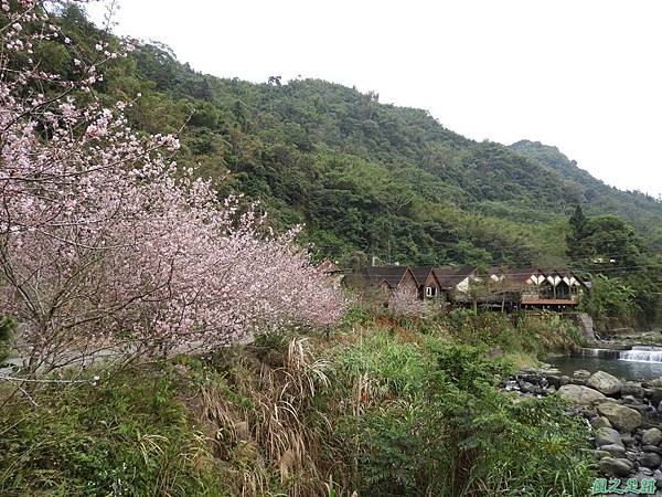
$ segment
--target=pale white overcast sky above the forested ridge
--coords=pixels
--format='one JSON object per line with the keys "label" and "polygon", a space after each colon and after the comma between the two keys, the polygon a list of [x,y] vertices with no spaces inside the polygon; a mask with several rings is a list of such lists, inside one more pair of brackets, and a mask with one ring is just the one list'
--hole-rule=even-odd
{"label": "pale white overcast sky above the forested ridge", "polygon": [[[318,77],[662,193],[662,1],[120,0],[115,32],[216,76]],[[94,19],[99,7],[92,6]]]}

